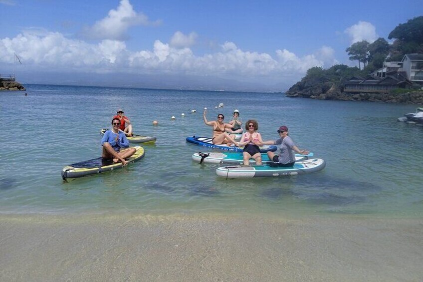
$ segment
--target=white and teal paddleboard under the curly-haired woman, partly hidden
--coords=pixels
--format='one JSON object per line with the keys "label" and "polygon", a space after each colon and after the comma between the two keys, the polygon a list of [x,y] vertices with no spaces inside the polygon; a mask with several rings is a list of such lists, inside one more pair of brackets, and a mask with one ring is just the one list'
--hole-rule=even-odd
{"label": "white and teal paddleboard under the curly-haired woman, partly hidden", "polygon": [[[313,157],[313,153],[309,153],[308,155],[300,155],[295,154],[295,161],[303,161],[307,160],[309,157]],[[195,153],[193,154],[193,160],[199,163],[209,163],[209,164],[237,164],[241,165],[243,163],[243,156],[242,153],[231,153],[231,152],[208,152],[208,153]],[[261,161],[263,164],[267,164],[272,162],[269,160],[267,154],[261,154]],[[250,159],[250,164],[254,165],[255,160]]]}

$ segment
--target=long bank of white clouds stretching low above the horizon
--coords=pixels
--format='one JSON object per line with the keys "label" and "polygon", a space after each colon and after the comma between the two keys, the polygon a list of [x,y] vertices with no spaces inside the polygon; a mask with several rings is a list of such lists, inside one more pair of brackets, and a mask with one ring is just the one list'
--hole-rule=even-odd
{"label": "long bank of white clouds stretching low above the horizon", "polygon": [[272,56],[244,51],[227,41],[217,52],[199,56],[188,47],[175,47],[160,40],[151,49],[134,52],[119,40],[93,44],[40,30],[0,39],[0,66],[11,65],[14,53],[25,69],[33,71],[209,75],[268,84],[293,84],[310,67],[336,62],[334,51],[328,46],[303,57],[286,49],[276,50]]}

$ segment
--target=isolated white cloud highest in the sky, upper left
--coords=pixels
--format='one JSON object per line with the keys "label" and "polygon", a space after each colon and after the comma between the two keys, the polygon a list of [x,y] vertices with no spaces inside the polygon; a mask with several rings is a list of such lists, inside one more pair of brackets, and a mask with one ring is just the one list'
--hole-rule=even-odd
{"label": "isolated white cloud highest in the sky, upper left", "polygon": [[145,14],[134,11],[129,0],[121,0],[117,9],[111,9],[108,16],[93,26],[85,27],[82,35],[88,39],[124,40],[128,37],[129,27],[155,24],[160,21],[150,22]]}

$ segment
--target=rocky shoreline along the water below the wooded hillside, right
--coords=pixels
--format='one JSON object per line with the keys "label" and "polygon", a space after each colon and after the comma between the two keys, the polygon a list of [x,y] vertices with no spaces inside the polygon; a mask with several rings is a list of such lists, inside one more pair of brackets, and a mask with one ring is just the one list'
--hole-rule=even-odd
{"label": "rocky shoreline along the water below the wooded hillside, right", "polygon": [[285,92],[288,97],[301,97],[319,100],[370,101],[386,103],[423,104],[423,91],[407,93],[346,93],[340,87],[327,84],[301,87],[298,83]]}

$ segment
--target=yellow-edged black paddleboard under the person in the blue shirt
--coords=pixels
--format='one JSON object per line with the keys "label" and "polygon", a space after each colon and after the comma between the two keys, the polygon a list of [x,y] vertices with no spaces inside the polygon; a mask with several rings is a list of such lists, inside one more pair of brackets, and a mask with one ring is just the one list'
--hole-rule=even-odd
{"label": "yellow-edged black paddleboard under the person in the blue shirt", "polygon": [[[135,146],[133,148],[135,148],[137,151],[131,157],[126,159],[128,161],[128,165],[142,159],[145,154],[143,147]],[[100,157],[64,167],[62,169],[62,178],[63,180],[70,178],[78,178],[87,175],[102,173],[105,171],[115,170],[117,168],[121,168],[122,166],[123,165],[121,162],[114,163],[113,160],[106,160]]]}

